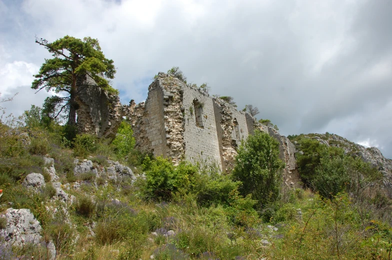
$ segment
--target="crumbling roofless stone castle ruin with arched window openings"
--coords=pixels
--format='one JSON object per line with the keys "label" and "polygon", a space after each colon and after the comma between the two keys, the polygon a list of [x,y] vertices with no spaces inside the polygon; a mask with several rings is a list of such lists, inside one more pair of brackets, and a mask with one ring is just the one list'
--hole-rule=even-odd
{"label": "crumbling roofless stone castle ruin with arched window openings", "polygon": [[131,100],[121,106],[118,96],[96,88],[86,90],[78,102],[80,132],[113,136],[122,116],[126,116],[136,148],[170,158],[174,164],[182,159],[215,162],[223,171],[230,171],[241,140],[260,129],[279,141],[286,172],[295,169],[295,148],[286,137],[171,74],[159,72],[148,87],[146,101],[139,104]]}

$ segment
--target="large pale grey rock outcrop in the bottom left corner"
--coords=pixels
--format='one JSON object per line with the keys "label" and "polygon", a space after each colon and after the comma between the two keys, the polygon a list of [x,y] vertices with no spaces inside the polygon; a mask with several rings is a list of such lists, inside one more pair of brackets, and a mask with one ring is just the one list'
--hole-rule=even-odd
{"label": "large pale grey rock outcrop in the bottom left corner", "polygon": [[9,208],[3,216],[7,221],[7,226],[5,229],[0,230],[0,237],[4,239],[7,245],[40,244],[44,249],[48,249],[51,259],[55,258],[56,250],[53,242],[50,241],[46,245],[40,234],[42,228],[30,210]]}

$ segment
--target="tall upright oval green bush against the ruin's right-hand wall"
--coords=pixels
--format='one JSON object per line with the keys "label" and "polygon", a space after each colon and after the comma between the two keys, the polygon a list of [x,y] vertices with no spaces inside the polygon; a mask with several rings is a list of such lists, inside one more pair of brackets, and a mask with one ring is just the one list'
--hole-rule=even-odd
{"label": "tall upright oval green bush against the ruin's right-hand wall", "polygon": [[279,197],[284,163],[279,159],[279,143],[268,134],[255,131],[238,148],[234,180],[242,182],[242,195],[252,194],[262,207]]}

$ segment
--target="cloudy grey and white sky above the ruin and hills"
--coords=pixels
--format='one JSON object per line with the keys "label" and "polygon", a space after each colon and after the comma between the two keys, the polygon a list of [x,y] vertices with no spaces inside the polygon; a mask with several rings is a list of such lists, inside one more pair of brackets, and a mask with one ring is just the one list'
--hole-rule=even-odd
{"label": "cloudy grey and white sky above the ruin and hills", "polygon": [[158,71],[253,104],[284,135],[335,133],[392,158],[390,0],[0,0],[1,97],[15,115],[46,50],[34,36],[99,39],[122,103]]}

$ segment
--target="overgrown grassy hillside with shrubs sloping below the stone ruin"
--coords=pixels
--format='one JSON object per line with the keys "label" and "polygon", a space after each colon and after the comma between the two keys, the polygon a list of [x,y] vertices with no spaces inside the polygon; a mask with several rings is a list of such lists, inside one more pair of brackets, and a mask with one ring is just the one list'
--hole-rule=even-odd
{"label": "overgrown grassy hillside with shrubs sloping below the stone ruin", "polygon": [[[390,259],[380,176],[339,148],[300,143],[308,188],[290,189],[268,135],[243,144],[234,172],[222,175],[213,164],[173,166],[141,154],[126,122],[114,140],[98,140],[31,114],[0,124],[0,210],[30,209],[58,260]],[[54,159],[58,181],[44,157]],[[86,159],[91,168],[75,171]],[[45,187],[23,186],[30,173],[42,174]],[[57,183],[68,199],[56,195]],[[44,247],[1,241],[0,259],[10,254],[47,258]]]}

